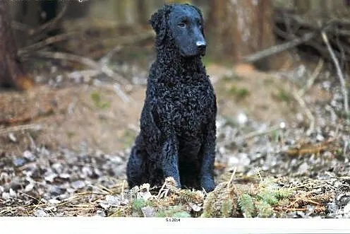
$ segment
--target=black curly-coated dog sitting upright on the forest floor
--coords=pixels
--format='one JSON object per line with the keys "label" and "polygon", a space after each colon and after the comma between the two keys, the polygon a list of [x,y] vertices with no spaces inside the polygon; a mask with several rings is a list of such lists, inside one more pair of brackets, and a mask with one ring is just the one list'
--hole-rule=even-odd
{"label": "black curly-coated dog sitting upright on the forest floor", "polygon": [[128,160],[129,187],[161,185],[215,188],[216,97],[200,57],[205,54],[203,16],[188,4],[165,5],[150,24],[157,60],[147,83],[140,134]]}

